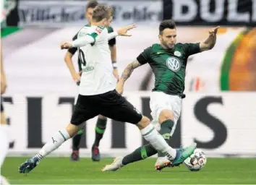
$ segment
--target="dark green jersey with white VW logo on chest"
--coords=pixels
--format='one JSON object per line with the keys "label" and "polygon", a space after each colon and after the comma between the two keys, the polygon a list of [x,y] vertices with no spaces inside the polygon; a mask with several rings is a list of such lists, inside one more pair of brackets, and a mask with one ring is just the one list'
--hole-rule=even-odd
{"label": "dark green jersey with white VW logo on chest", "polygon": [[200,52],[200,43],[176,43],[174,48],[165,49],[160,44],[146,48],[137,61],[148,63],[155,74],[153,91],[168,95],[182,95],[185,88],[187,58]]}

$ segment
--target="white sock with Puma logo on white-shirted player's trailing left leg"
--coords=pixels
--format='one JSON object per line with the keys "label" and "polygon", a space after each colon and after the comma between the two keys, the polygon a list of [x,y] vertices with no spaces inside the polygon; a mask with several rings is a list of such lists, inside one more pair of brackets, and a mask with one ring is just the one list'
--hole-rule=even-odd
{"label": "white sock with Puma logo on white-shirted player's trailing left leg", "polygon": [[46,145],[42,147],[42,149],[39,151],[36,157],[38,157],[41,160],[43,157],[45,157],[49,153],[56,150],[59,146],[61,146],[62,143],[67,141],[67,139],[70,139],[70,136],[69,133],[67,133],[66,129],[56,132],[54,136],[51,137],[51,139],[48,142],[46,142]]}

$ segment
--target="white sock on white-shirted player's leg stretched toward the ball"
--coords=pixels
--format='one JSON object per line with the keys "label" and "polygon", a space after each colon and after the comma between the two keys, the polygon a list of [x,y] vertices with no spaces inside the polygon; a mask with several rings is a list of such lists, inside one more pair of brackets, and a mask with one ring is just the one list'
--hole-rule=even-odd
{"label": "white sock on white-shirted player's leg stretched toward the ball", "polygon": [[159,150],[166,154],[169,160],[173,160],[176,157],[176,150],[168,145],[152,124],[149,124],[144,129],[140,130],[140,132],[155,150]]}

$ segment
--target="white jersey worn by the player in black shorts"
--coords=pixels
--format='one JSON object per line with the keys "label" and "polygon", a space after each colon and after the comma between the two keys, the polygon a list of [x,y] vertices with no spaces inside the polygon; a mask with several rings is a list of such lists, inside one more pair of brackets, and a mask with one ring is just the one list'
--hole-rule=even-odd
{"label": "white jersey worn by the player in black shorts", "polygon": [[85,26],[78,33],[77,39],[85,35],[92,36],[95,42],[77,48],[82,61],[80,95],[99,95],[114,90],[116,78],[108,48],[108,30],[106,27]]}

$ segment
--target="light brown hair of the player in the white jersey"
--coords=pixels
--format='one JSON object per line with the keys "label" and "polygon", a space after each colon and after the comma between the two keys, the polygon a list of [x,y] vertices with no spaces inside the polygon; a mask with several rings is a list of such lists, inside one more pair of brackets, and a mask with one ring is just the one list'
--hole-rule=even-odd
{"label": "light brown hair of the player in the white jersey", "polygon": [[113,9],[109,6],[99,4],[94,10],[93,10],[93,20],[95,22],[100,22],[103,19],[109,19],[111,16],[113,16]]}

